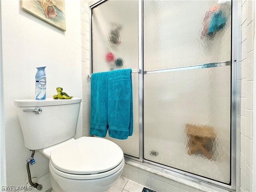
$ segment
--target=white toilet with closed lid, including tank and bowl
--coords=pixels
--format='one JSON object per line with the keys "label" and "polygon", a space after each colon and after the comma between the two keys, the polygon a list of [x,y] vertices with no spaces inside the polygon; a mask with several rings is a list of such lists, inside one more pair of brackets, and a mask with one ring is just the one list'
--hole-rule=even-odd
{"label": "white toilet with closed lid, including tank and bowl", "polygon": [[14,100],[25,146],[50,159],[54,192],[108,190],[124,168],[124,154],[103,138],[74,139],[81,98]]}

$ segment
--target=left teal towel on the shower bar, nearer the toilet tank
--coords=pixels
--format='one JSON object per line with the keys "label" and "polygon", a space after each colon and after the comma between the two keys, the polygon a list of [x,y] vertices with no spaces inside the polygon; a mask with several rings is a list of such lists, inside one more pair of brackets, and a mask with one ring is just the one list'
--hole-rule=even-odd
{"label": "left teal towel on the shower bar, nearer the toilet tank", "polygon": [[108,72],[91,76],[90,134],[105,137],[108,130]]}

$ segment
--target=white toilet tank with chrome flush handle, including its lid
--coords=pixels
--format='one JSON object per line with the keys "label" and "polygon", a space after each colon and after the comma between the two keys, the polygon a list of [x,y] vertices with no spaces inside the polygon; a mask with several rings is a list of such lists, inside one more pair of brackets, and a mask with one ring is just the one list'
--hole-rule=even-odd
{"label": "white toilet tank with chrome flush handle, including its lid", "polygon": [[[14,100],[25,147],[37,150],[72,138],[76,134],[80,102],[81,98]],[[37,114],[38,108],[41,112]]]}

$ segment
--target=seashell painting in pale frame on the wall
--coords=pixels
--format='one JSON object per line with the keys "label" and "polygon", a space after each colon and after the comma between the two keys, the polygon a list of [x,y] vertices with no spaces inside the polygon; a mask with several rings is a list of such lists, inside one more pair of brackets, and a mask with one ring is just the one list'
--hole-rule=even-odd
{"label": "seashell painting in pale frame on the wall", "polygon": [[65,0],[21,0],[21,8],[66,31]]}

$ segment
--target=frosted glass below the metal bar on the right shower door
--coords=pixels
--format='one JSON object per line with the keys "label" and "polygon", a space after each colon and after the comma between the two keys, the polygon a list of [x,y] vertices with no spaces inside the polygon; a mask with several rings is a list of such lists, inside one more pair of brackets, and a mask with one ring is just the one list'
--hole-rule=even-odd
{"label": "frosted glass below the metal bar on the right shower door", "polygon": [[144,158],[230,182],[230,66],[144,75]]}

